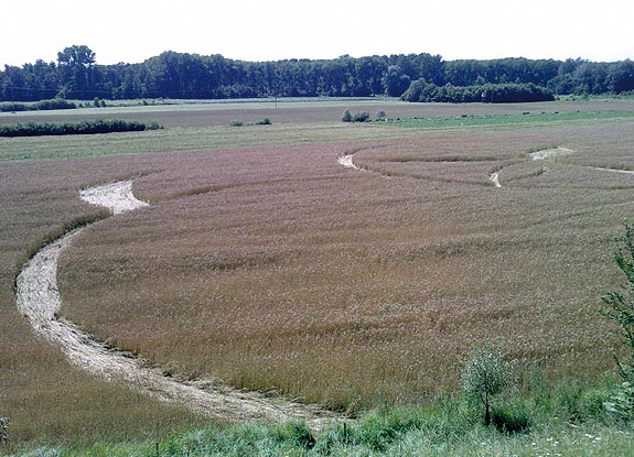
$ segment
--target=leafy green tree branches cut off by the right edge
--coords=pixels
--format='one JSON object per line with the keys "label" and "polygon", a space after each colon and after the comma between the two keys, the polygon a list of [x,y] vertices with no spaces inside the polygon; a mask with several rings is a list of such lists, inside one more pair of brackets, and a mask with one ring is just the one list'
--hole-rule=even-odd
{"label": "leafy green tree branches cut off by the right edge", "polygon": [[624,228],[625,233],[617,239],[621,247],[614,252],[614,262],[626,282],[601,300],[605,304],[602,314],[619,324],[628,353],[627,361],[614,356],[622,385],[606,407],[625,418],[634,418],[634,226],[625,222]]}

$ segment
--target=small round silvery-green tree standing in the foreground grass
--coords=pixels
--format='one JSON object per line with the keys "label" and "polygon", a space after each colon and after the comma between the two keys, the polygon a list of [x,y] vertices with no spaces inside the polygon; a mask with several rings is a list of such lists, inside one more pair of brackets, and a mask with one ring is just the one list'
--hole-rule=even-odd
{"label": "small round silvery-green tree standing in the foreground grass", "polygon": [[464,357],[461,380],[468,398],[480,400],[484,406],[484,425],[488,426],[493,396],[513,384],[511,363],[499,351],[474,348]]}

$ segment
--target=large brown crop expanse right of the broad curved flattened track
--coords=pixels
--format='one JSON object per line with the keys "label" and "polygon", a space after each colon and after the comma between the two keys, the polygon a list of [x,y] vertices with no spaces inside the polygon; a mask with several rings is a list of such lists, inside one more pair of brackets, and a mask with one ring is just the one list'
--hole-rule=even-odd
{"label": "large brown crop expanse right of the broad curved flattened track", "polygon": [[[624,121],[154,159],[136,182],[151,208],[64,255],[63,313],[184,373],[342,409],[451,389],[482,340],[598,373],[634,177],[582,165],[626,160],[632,135]],[[577,152],[536,165],[550,144]],[[354,151],[367,171],[337,165]]]}

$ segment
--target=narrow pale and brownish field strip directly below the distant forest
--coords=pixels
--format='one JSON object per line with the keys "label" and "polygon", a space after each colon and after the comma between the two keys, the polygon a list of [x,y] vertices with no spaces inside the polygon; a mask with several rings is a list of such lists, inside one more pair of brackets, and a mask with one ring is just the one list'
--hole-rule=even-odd
{"label": "narrow pale and brownish field strip directly below the distant forest", "polygon": [[455,117],[461,115],[522,115],[536,112],[581,111],[633,111],[634,100],[619,101],[552,101],[539,104],[409,104],[398,99],[370,98],[346,100],[247,100],[196,105],[125,106],[111,108],[82,108],[78,110],[26,111],[0,113],[0,124],[26,122],[30,120],[75,121],[96,118],[122,118],[140,121],[157,121],[165,127],[228,126],[235,119],[255,122],[269,118],[273,123],[315,123],[341,120],[344,109],[351,112],[367,111],[373,117],[385,110],[389,118]]}

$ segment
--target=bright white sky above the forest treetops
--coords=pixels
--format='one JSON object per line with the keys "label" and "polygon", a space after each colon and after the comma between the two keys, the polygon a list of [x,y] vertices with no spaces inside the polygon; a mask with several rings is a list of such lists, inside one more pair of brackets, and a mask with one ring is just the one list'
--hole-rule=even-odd
{"label": "bright white sky above the forest treetops", "polygon": [[243,61],[440,54],[634,59],[634,1],[25,0],[0,4],[0,68],[85,44],[98,64],[175,51]]}

